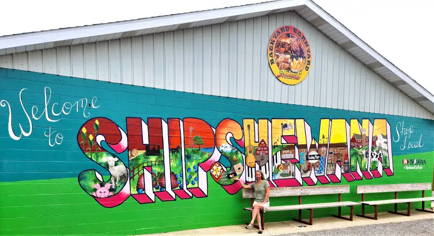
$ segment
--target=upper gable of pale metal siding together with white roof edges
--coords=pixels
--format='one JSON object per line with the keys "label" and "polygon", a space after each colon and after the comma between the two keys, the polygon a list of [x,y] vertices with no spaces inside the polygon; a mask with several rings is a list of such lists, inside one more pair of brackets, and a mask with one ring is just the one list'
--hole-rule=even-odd
{"label": "upper gable of pale metal siding together with white roof edges", "polygon": [[[295,6],[280,8],[288,5]],[[226,10],[230,12],[203,11],[3,36],[0,67],[189,93],[434,118],[432,94],[313,2],[305,6],[295,0],[266,2]],[[264,45],[281,25],[303,29],[312,42],[313,70],[299,86],[283,87],[262,63],[267,57]],[[249,83],[251,90],[240,90]],[[350,95],[350,91],[355,93]]]}

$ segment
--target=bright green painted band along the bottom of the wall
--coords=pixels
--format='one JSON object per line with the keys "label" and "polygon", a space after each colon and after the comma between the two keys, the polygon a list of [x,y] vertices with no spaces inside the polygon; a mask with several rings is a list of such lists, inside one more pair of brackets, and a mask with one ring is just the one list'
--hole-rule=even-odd
{"label": "bright green painted band along the bottom of the wall", "polygon": [[[350,185],[351,193],[342,196],[343,201],[360,201],[355,194],[357,185],[431,183],[433,180],[433,154],[419,153],[394,157],[393,176],[346,182],[342,178],[339,185]],[[422,170],[405,170],[402,159],[427,159]],[[108,178],[105,176],[105,178]],[[134,235],[169,232],[185,229],[216,227],[243,224],[249,219],[249,212],[243,207],[250,199],[242,199],[241,191],[235,195],[226,193],[208,174],[208,197],[176,199],[176,201],[139,204],[128,198],[115,208],[101,207],[92,197],[80,188],[77,178],[2,182],[0,199],[0,235],[78,235],[108,234]],[[399,198],[420,197],[420,191],[400,192]],[[427,192],[426,196],[431,196]],[[393,198],[394,193],[366,194],[366,200]],[[337,195],[305,196],[303,203],[336,201]],[[298,197],[270,199],[272,206],[298,204]],[[412,203],[412,208],[420,207]],[[399,209],[405,210],[406,204]],[[430,203],[426,203],[429,207]],[[379,207],[380,212],[392,210],[393,205]],[[336,213],[337,209],[314,210],[314,217],[324,217]],[[349,208],[343,208],[344,214]],[[360,213],[361,207],[355,208]],[[368,213],[373,212],[368,208]],[[308,217],[308,211],[303,211]],[[289,220],[298,215],[297,211],[269,212],[266,222]]]}

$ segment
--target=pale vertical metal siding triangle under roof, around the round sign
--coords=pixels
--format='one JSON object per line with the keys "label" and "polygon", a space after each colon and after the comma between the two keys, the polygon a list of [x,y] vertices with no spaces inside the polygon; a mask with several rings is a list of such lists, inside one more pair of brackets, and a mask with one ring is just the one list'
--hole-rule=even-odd
{"label": "pale vertical metal siding triangle under roof, around the round sign", "polygon": [[[302,30],[312,48],[313,67],[307,78],[295,86],[278,81],[267,62],[267,43],[282,25]],[[90,38],[92,41],[95,39]],[[198,94],[434,119],[433,114],[294,12],[3,55],[0,67]]]}

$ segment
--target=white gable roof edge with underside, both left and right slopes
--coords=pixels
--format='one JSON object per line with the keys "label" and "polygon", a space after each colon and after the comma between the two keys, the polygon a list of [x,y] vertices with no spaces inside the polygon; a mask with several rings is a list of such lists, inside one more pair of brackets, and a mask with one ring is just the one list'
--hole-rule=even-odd
{"label": "white gable roof edge with underside, both left and right slopes", "polygon": [[276,0],[169,16],[2,36],[0,55],[219,24],[286,11],[297,12],[372,71],[434,114],[433,94],[340,24],[313,0]]}

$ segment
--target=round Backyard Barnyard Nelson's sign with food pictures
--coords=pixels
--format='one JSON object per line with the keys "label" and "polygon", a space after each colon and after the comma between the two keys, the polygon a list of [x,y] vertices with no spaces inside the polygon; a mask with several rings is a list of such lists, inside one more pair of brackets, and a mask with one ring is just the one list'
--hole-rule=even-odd
{"label": "round Backyard Barnyard Nelson's sign with food pictures", "polygon": [[268,43],[268,63],[277,79],[289,85],[300,83],[311,61],[311,46],[299,29],[285,25],[274,31]]}

